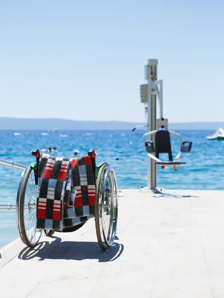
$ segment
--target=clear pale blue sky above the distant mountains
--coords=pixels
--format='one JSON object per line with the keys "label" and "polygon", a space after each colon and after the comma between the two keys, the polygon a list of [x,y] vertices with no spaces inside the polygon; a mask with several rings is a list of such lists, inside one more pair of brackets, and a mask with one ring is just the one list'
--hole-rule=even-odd
{"label": "clear pale blue sky above the distant mountains", "polygon": [[0,117],[144,122],[148,59],[164,118],[224,121],[223,0],[0,0]]}

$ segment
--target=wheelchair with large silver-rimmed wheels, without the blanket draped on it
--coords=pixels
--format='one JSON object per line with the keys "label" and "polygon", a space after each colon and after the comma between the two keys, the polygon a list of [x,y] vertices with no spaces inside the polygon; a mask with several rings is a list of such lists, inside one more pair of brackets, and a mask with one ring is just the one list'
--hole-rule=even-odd
{"label": "wheelchair with large silver-rimmed wheels, without the blanket draped on it", "polygon": [[[37,228],[37,195],[38,195],[38,162],[40,151],[32,151],[37,158],[22,173],[17,191],[16,222],[18,234],[28,247],[35,247],[42,235],[43,229]],[[87,156],[87,155],[86,155]],[[92,159],[95,179],[95,226],[100,248],[107,250],[112,246],[117,227],[118,190],[114,169],[107,162],[96,166],[96,152],[91,149],[88,156]],[[94,218],[94,217],[93,217]],[[61,232],[75,231],[84,223],[71,228],[63,228]],[[47,236],[52,236],[54,229],[44,229]]]}

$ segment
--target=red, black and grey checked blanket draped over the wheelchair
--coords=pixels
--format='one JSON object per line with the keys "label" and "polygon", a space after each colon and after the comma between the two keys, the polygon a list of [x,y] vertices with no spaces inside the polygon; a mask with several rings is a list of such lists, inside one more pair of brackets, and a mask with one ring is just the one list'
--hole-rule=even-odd
{"label": "red, black and grey checked blanket draped over the wheelchair", "polygon": [[37,228],[62,231],[95,215],[92,159],[40,155]]}

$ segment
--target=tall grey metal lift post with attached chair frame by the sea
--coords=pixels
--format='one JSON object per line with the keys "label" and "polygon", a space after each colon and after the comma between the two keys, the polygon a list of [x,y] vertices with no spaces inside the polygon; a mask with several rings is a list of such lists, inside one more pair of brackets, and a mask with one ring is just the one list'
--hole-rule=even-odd
{"label": "tall grey metal lift post with attached chair frame by the sea", "polygon": [[[147,114],[147,125],[136,126],[136,128],[146,127],[147,133],[143,135],[143,144],[147,152],[147,187],[141,188],[141,191],[158,192],[161,189],[157,188],[157,166],[163,169],[173,167],[177,170],[177,166],[186,162],[179,161],[182,152],[189,152],[192,147],[192,142],[181,141],[181,136],[175,132],[168,131],[168,119],[163,117],[163,80],[157,80],[158,60],[149,59],[145,66],[146,84],[140,85],[141,102],[145,104]],[[160,118],[157,119],[157,98],[160,107]],[[179,137],[179,152],[173,158],[171,152],[170,136]],[[168,153],[168,161],[162,161],[159,158],[160,153]]]}

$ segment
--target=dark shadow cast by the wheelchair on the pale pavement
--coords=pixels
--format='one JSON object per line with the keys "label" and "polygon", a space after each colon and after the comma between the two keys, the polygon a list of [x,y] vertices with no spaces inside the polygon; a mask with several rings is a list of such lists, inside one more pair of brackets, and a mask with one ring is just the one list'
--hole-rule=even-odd
{"label": "dark shadow cast by the wheelchair on the pale pavement", "polygon": [[45,259],[55,260],[85,260],[98,259],[99,262],[115,261],[123,252],[124,246],[114,243],[107,251],[99,247],[98,242],[75,242],[63,241],[60,237],[54,237],[54,241],[39,242],[34,248],[26,247],[18,255],[19,259],[30,260],[39,258],[39,261]]}

